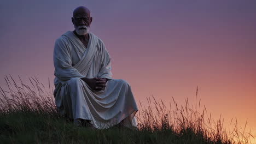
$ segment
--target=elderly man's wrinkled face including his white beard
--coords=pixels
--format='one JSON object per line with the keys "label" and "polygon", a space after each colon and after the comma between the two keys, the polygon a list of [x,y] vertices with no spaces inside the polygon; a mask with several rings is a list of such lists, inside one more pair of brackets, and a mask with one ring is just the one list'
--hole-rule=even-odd
{"label": "elderly man's wrinkled face including his white beard", "polygon": [[78,35],[85,35],[89,32],[89,27],[91,25],[90,13],[84,9],[78,10],[74,13],[72,22],[75,32],[77,32]]}

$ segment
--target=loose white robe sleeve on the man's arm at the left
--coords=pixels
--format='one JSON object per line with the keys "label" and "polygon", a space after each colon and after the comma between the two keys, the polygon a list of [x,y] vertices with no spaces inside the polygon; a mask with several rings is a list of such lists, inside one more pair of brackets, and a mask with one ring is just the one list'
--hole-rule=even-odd
{"label": "loose white robe sleeve on the man's arm at the left", "polygon": [[61,81],[65,82],[72,77],[85,77],[79,71],[72,67],[71,50],[67,41],[59,38],[55,41],[54,46],[54,75]]}

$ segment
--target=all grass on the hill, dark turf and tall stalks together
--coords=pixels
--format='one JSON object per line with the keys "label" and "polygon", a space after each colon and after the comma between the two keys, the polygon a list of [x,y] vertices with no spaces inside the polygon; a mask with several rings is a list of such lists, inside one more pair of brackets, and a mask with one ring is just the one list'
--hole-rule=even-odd
{"label": "all grass on the hill, dark turf and tall stalks together", "polygon": [[30,86],[12,77],[5,81],[7,90],[0,87],[0,143],[251,143],[251,133],[237,129],[237,121],[228,133],[223,119],[215,122],[206,108],[200,113],[200,100],[194,109],[188,99],[184,106],[173,99],[174,109],[171,103],[167,109],[162,101],[147,98],[148,106],[139,103],[137,129],[92,130],[57,113],[50,82],[48,89],[36,77]]}

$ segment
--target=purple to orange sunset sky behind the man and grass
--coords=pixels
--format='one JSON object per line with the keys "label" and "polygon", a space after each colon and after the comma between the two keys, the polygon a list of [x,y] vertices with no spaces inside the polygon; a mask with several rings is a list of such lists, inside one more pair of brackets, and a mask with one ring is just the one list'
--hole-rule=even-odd
{"label": "purple to orange sunset sky behind the man and grass", "polygon": [[[216,118],[237,117],[256,136],[256,1],[3,1],[0,86],[4,76],[53,84],[54,43],[73,31],[74,8],[93,17],[90,32],[112,58],[114,79],[137,101],[197,97]],[[52,85],[53,86],[53,85]]]}

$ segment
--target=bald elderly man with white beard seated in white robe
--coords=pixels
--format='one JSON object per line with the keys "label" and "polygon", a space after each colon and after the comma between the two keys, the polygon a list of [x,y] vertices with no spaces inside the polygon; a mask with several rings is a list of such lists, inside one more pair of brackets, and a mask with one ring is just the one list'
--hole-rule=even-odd
{"label": "bald elderly man with white beard seated in white robe", "polygon": [[136,127],[138,109],[131,87],[125,80],[112,79],[110,57],[103,41],[88,32],[91,22],[88,8],[76,8],[72,17],[75,30],[55,41],[57,109],[79,126]]}

